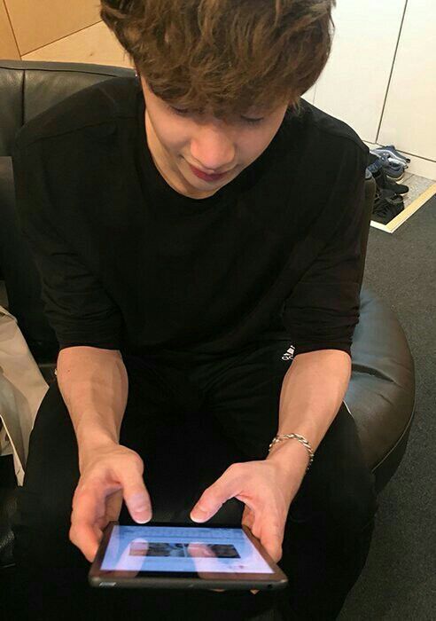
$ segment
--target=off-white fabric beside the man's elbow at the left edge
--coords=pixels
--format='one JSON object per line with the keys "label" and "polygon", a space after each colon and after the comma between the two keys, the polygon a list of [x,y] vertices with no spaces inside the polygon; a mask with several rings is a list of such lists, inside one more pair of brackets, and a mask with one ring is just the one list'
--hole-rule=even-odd
{"label": "off-white fabric beside the man's elbow at the left edge", "polygon": [[17,319],[0,306],[0,459],[13,454],[19,485],[24,480],[30,432],[48,389]]}

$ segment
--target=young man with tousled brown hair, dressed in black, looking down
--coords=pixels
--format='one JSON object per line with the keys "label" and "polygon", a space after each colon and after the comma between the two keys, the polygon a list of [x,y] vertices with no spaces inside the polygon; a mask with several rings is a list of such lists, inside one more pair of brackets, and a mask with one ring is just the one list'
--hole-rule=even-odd
{"label": "young man with tousled brown hair, dressed in black, looking down", "polygon": [[[49,601],[58,614],[94,598],[94,616],[104,597],[121,601],[90,593],[89,562],[110,520],[152,518],[168,428],[195,416],[241,459],[185,518],[243,503],[289,575],[284,618],[336,618],[362,570],[377,499],[343,399],[368,148],[300,100],[328,58],[332,4],[105,0],[136,78],[97,83],[19,132],[20,220],[59,342],[14,525],[45,618]],[[43,570],[58,600],[44,600]],[[201,617],[253,618],[269,597],[194,595],[174,615],[201,600]],[[125,601],[172,618],[154,598]]]}

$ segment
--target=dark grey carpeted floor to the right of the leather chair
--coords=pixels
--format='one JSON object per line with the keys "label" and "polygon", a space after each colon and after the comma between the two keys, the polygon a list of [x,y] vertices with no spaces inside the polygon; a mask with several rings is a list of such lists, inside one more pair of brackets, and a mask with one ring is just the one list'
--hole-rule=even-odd
{"label": "dark grey carpeted floor to the right of the leather chair", "polygon": [[367,564],[339,621],[436,619],[436,197],[393,235],[370,229],[364,284],[395,312],[415,361],[417,404],[401,465],[379,494]]}

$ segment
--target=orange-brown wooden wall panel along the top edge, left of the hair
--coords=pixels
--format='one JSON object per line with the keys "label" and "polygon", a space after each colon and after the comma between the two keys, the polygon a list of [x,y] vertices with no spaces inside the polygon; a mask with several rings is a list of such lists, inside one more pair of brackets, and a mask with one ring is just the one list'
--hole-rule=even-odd
{"label": "orange-brown wooden wall panel along the top edge, left of the hair", "polygon": [[4,0],[24,56],[100,20],[97,0]]}

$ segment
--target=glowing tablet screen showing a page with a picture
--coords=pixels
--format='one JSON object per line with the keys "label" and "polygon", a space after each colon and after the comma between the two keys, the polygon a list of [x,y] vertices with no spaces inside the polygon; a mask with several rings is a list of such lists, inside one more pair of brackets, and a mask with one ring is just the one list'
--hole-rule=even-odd
{"label": "glowing tablet screen showing a page with a picture", "polygon": [[102,570],[272,574],[241,528],[113,526]]}

